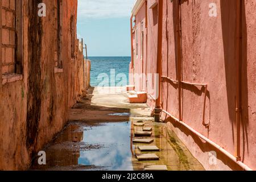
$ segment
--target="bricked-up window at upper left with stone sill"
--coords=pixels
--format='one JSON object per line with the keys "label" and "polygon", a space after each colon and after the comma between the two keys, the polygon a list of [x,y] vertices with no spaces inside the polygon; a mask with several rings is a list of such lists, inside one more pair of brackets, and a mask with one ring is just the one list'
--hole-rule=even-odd
{"label": "bricked-up window at upper left with stone sill", "polygon": [[22,0],[2,1],[2,75],[22,74]]}

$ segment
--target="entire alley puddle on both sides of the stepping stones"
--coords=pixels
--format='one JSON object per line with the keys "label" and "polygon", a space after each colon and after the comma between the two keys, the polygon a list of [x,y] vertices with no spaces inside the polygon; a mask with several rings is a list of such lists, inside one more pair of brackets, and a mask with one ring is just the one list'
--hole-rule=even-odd
{"label": "entire alley puddle on both sides of the stepping stones", "polygon": [[152,127],[154,142],[150,145],[160,148],[152,152],[160,160],[139,162],[135,154],[150,152],[138,150],[146,144],[131,144],[134,131],[142,131],[142,127],[133,126],[133,120],[93,126],[70,123],[46,148],[47,165],[40,166],[35,159],[31,170],[143,171],[145,165],[166,165],[170,171],[204,170],[164,123],[152,121],[144,121],[145,127]]}

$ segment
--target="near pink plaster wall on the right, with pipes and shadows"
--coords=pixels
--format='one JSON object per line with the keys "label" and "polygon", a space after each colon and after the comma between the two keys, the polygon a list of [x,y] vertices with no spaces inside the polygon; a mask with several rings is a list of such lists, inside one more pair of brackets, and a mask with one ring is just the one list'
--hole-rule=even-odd
{"label": "near pink plaster wall on the right, with pipes and shadows", "polygon": [[[148,6],[150,6],[148,1]],[[177,1],[163,1],[162,75],[177,80],[176,14]],[[216,3],[217,16],[209,16],[209,4]],[[247,166],[256,169],[256,2],[242,1],[242,125],[241,157]],[[148,10],[148,67],[156,72],[157,26]],[[150,23],[151,22],[151,23]],[[154,32],[154,34],[152,34]],[[183,121],[193,129],[235,154],[236,144],[236,1],[181,1],[181,52],[183,81],[208,84],[205,122],[203,126],[204,88],[182,86]],[[139,48],[140,49],[140,48]],[[163,79],[162,109],[179,118],[178,87]],[[153,108],[154,102],[148,102]],[[162,113],[162,119],[169,121]],[[209,164],[209,152],[216,148],[185,130],[175,122],[168,125],[187,145],[206,169],[241,169],[217,152],[217,165]]]}

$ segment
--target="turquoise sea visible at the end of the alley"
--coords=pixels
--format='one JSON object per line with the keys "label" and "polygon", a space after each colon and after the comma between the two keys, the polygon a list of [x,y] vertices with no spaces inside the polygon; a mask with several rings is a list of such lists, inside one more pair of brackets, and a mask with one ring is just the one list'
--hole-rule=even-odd
{"label": "turquoise sea visible at the end of the alley", "polygon": [[[123,73],[127,77],[127,81],[129,79],[129,64],[131,61],[131,57],[88,57],[90,61],[92,61],[92,69],[90,71],[90,85],[98,86],[102,82],[102,76],[109,77],[109,85],[111,85],[110,81],[118,84],[120,80],[117,79],[119,73]],[[112,72],[112,76],[110,77],[110,72]],[[115,73],[113,76],[113,73]],[[120,75],[120,74],[119,74]],[[111,80],[110,80],[111,79]],[[116,86],[116,85],[115,85]]]}

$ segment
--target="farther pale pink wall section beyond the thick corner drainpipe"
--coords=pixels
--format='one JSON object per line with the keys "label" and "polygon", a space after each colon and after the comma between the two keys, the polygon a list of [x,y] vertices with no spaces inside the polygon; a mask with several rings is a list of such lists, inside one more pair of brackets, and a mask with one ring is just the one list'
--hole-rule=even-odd
{"label": "farther pale pink wall section beyond the thick corner drainpipe", "polygon": [[[150,93],[151,96],[156,97],[155,86],[155,76],[156,73],[156,56],[157,56],[157,37],[158,37],[158,6],[154,9],[150,9],[152,3],[155,0],[148,0],[147,5],[144,2],[141,9],[139,9],[137,15],[135,15],[135,25],[134,30],[138,29],[138,32],[141,31],[141,21],[144,22],[144,55],[143,61],[141,60],[141,34],[138,34],[138,58],[136,57],[136,52],[134,51],[134,64],[135,68],[131,69],[130,65],[130,85],[135,85],[136,91],[146,91]],[[147,8],[147,10],[146,10]],[[146,27],[146,13],[147,13],[147,27]],[[136,50],[136,39],[135,33],[133,34],[133,48]],[[132,75],[138,73],[143,75],[143,82],[134,79]],[[152,74],[152,75],[151,75]],[[146,78],[146,76],[148,79]],[[147,83],[152,80],[152,85]],[[147,98],[148,105],[151,106],[151,110],[154,110],[155,100],[154,98],[148,96]]]}

